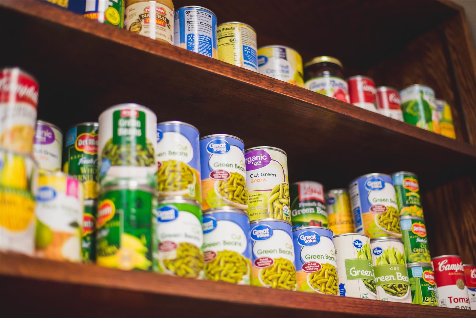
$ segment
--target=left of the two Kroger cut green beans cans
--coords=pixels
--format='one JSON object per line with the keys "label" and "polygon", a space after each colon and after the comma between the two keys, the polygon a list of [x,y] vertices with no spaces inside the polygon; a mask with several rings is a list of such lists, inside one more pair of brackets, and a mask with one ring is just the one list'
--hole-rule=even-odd
{"label": "left of the two Kroger cut green beans cans", "polygon": [[377,299],[369,237],[358,233],[335,235],[334,244],[339,251],[340,296]]}

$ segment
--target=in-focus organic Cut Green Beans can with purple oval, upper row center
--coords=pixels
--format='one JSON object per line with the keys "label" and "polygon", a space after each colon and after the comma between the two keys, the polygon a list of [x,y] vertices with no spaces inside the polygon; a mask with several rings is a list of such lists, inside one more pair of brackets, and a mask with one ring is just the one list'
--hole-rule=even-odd
{"label": "in-focus organic Cut Green Beans can with purple oval, upper row center", "polygon": [[249,219],[291,222],[288,155],[276,147],[245,150]]}

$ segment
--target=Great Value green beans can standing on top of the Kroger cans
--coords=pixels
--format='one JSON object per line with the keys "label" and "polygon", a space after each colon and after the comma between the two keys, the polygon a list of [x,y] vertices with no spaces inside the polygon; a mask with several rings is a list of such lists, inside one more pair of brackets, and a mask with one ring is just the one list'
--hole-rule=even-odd
{"label": "Great Value green beans can standing on top of the Kroger cans", "polygon": [[349,184],[350,202],[357,233],[370,238],[402,237],[397,197],[388,174],[365,174]]}

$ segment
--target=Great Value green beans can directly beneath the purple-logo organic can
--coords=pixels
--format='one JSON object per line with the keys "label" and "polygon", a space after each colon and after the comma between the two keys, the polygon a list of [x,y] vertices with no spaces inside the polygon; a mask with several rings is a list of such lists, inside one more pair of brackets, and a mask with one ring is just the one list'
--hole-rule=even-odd
{"label": "Great Value green beans can directly beneath the purple-logo organic can", "polygon": [[252,221],[251,285],[296,290],[292,226],[277,219]]}

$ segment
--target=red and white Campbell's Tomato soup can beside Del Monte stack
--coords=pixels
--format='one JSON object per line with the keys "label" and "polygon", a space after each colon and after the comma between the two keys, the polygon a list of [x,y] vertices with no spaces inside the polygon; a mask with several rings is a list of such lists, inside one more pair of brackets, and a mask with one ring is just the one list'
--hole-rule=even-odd
{"label": "red and white Campbell's Tomato soup can beside Del Monte stack", "polygon": [[471,309],[465,270],[458,255],[442,255],[431,259],[435,271],[439,307]]}

